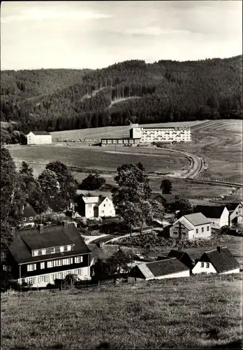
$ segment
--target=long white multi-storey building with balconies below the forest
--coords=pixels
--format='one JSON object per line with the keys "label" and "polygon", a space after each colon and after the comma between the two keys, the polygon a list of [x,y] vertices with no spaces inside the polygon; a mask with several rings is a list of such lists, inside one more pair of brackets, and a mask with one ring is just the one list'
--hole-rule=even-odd
{"label": "long white multi-storey building with balconies below the forest", "polygon": [[172,143],[191,142],[190,127],[139,127],[138,125],[130,130],[130,137],[140,139],[141,143]]}

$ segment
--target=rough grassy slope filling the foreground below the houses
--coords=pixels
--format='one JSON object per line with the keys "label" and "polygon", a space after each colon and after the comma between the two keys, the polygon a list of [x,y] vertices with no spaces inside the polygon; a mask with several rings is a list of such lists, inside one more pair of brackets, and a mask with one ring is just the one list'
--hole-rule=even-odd
{"label": "rough grassy slope filling the foreground below the houses", "polygon": [[1,349],[240,349],[241,306],[242,274],[1,295]]}

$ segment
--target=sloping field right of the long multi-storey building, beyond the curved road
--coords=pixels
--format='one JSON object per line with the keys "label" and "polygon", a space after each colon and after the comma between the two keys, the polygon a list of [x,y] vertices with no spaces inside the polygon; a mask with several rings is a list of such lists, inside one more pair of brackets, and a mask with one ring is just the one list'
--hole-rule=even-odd
{"label": "sloping field right of the long multi-storey building, beyond the curved road", "polygon": [[[174,144],[207,161],[208,169],[198,179],[242,183],[242,120],[209,120],[192,132],[192,144]],[[193,130],[193,131],[194,131]]]}

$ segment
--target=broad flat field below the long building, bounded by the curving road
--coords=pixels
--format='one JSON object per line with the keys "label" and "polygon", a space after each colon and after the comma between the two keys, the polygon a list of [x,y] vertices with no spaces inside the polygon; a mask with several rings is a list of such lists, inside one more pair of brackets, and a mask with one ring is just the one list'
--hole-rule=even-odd
{"label": "broad flat field below the long building, bounded by the curving road", "polygon": [[[115,172],[117,167],[124,163],[142,162],[147,172],[187,172],[191,163],[184,155],[177,155],[168,151],[150,149],[131,148],[124,152],[113,153],[108,148],[77,148],[77,147],[54,147],[53,145],[42,146],[13,146],[10,147],[10,153],[16,162],[22,160],[27,162],[36,162],[37,165],[44,165],[48,162],[59,160],[68,167],[79,167],[88,169],[97,169],[107,172]],[[133,152],[135,154],[133,154]],[[34,164],[32,165],[34,167]]]}

